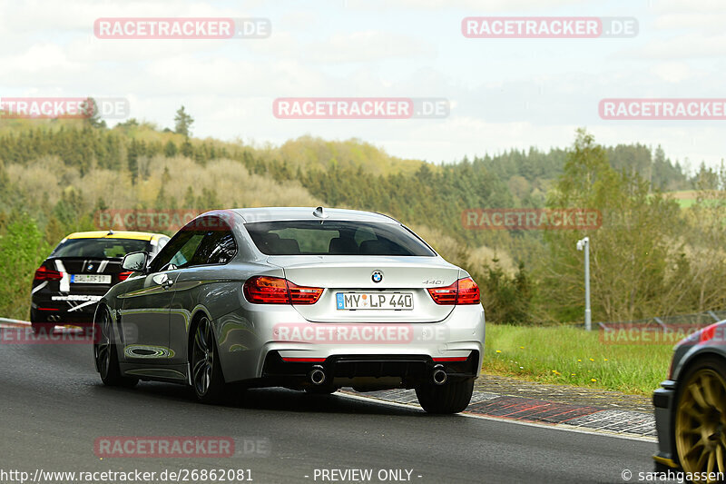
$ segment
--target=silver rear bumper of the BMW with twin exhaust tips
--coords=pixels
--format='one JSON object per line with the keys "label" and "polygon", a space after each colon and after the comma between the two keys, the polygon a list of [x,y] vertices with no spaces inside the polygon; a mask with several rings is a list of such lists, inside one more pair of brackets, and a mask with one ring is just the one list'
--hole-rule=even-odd
{"label": "silver rear bumper of the BMW with twin exhaust tips", "polygon": [[[311,365],[296,366],[295,359],[322,364],[341,379],[352,371],[355,378],[395,377],[406,383],[426,378],[434,363],[444,365],[451,378],[475,378],[484,353],[485,315],[479,304],[456,306],[437,322],[315,323],[291,307],[277,306],[241,308],[213,323],[227,381],[298,380]],[[287,336],[280,331],[284,325],[289,325]],[[389,388],[400,385],[392,381]]]}

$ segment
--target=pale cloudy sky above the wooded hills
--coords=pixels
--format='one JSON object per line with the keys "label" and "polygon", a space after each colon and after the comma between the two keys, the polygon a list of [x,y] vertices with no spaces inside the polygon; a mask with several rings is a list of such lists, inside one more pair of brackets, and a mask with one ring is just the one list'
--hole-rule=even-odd
{"label": "pale cloudy sky above the wooded hills", "polygon": [[[634,17],[627,38],[466,38],[468,16]],[[98,18],[263,18],[266,38],[104,39]],[[0,0],[0,98],[124,98],[195,137],[358,138],[434,163],[511,148],[662,145],[692,169],[724,156],[724,120],[605,120],[604,98],[726,98],[720,0]],[[444,98],[437,119],[279,119],[280,97]],[[109,119],[113,125],[118,119]],[[123,121],[123,120],[121,120]]]}

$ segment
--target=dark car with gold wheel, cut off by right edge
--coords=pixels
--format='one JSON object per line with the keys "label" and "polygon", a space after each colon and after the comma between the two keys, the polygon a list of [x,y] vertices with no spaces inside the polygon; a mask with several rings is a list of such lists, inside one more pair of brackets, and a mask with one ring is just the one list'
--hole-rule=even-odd
{"label": "dark car with gold wheel, cut off by right edge", "polygon": [[653,393],[656,469],[682,469],[693,482],[726,480],[726,321],[678,343],[661,386]]}

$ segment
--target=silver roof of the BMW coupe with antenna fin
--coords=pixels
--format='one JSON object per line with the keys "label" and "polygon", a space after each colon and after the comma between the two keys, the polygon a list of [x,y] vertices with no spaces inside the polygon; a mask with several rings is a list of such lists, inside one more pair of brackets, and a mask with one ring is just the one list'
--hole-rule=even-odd
{"label": "silver roof of the BMW coupe with antenna fin", "polygon": [[[322,210],[323,216],[314,212]],[[388,215],[360,210],[333,209],[324,207],[260,207],[239,208],[232,212],[240,214],[245,222],[272,222],[280,220],[345,220],[357,222],[398,223]]]}

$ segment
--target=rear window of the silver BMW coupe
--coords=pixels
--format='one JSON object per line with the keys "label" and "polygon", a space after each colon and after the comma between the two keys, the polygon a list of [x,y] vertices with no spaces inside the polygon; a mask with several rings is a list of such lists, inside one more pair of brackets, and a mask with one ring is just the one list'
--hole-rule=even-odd
{"label": "rear window of the silver BMW coupe", "polygon": [[251,222],[245,228],[267,255],[436,255],[397,223],[303,220]]}

